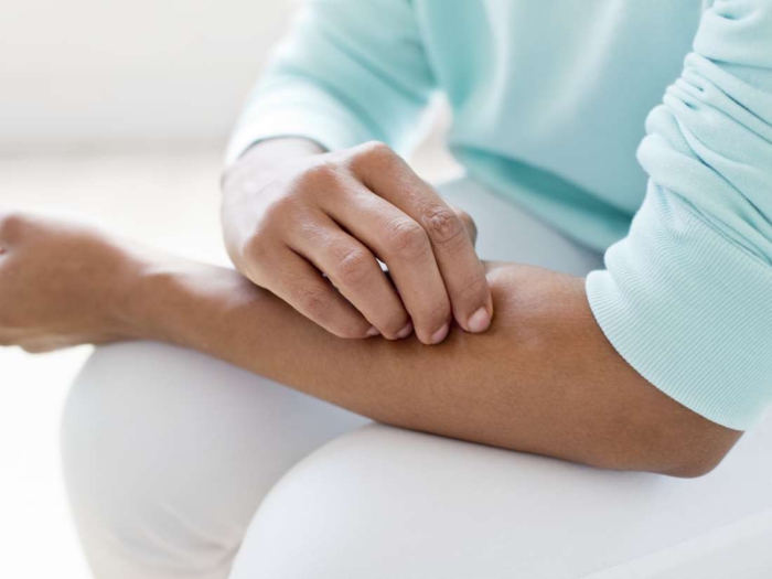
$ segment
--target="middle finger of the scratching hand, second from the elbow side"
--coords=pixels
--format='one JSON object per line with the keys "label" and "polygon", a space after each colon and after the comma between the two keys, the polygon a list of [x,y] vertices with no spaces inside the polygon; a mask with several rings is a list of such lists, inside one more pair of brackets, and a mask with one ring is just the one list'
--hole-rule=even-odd
{"label": "middle finger of the scratching hand, second from the elbow side", "polygon": [[450,299],[426,232],[360,183],[352,184],[351,195],[331,200],[331,216],[388,265],[418,339],[442,342],[450,329]]}

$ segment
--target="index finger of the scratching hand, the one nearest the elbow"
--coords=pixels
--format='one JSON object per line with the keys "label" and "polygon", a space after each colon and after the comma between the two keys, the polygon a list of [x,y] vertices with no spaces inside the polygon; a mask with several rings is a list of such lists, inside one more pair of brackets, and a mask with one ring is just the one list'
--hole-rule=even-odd
{"label": "index finger of the scratching hand, the one nearest the elbow", "polygon": [[369,147],[364,160],[352,164],[354,173],[426,230],[459,324],[470,332],[487,330],[493,300],[464,224],[405,161],[388,149]]}

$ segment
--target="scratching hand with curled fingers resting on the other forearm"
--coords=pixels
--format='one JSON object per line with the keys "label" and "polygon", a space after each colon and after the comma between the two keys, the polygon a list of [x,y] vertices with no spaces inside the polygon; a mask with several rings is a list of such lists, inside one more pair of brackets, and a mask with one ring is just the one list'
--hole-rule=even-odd
{"label": "scratching hand with curled fingers resting on the other forearm", "polygon": [[452,318],[470,332],[489,328],[493,305],[471,219],[386,146],[323,153],[305,140],[266,141],[223,190],[236,268],[333,334],[394,340],[415,328],[436,344]]}

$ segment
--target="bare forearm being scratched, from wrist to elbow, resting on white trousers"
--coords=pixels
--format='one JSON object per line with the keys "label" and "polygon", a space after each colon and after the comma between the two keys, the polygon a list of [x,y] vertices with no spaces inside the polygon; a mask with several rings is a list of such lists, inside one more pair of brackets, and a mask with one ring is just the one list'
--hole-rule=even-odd
{"label": "bare forearm being scratched, from wrist to elbow, resting on white trousers", "polygon": [[[739,438],[678,405],[605,341],[583,280],[516,265],[489,271],[495,321],[415,337],[334,337],[238,274],[148,276],[149,337],[173,342],[375,420],[587,464],[696,475]],[[138,312],[140,311],[138,310]]]}

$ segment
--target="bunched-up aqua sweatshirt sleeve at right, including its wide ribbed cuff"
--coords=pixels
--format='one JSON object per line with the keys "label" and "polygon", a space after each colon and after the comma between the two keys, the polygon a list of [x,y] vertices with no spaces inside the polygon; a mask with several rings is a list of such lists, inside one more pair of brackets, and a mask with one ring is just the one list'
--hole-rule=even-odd
{"label": "bunched-up aqua sweatshirt sleeve at right, including its wide ribbed cuff", "polygon": [[747,430],[772,404],[772,0],[716,0],[639,161],[629,235],[587,278],[608,340],[695,412]]}

